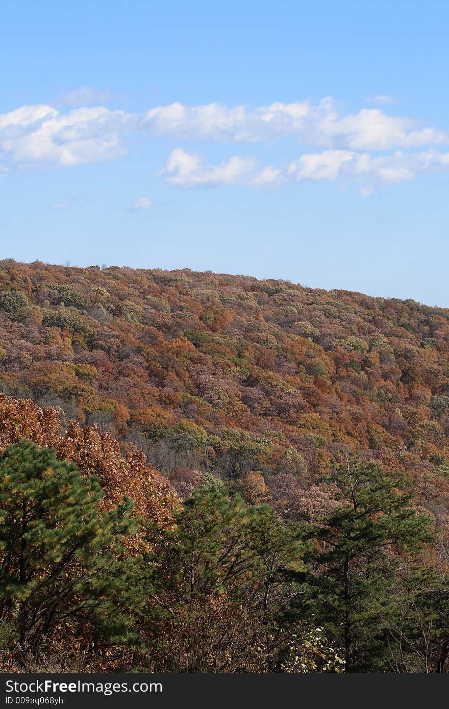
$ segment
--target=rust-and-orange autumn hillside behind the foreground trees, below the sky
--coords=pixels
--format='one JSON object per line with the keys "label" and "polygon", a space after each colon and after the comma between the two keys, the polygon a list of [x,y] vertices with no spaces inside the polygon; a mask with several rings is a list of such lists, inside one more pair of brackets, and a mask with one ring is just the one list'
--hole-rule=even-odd
{"label": "rust-and-orange autumn hillside behind the foreground trees, below the sky", "polygon": [[137,445],[181,493],[209,471],[288,510],[350,447],[409,471],[418,501],[447,513],[448,309],[6,260],[0,358],[1,391]]}

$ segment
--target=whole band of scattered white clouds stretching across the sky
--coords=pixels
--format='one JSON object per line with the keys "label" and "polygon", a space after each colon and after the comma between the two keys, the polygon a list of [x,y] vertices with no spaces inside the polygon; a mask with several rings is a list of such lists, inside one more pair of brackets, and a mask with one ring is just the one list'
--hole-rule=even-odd
{"label": "whole band of scattered white clouds stretching across the sky", "polygon": [[[69,94],[72,101],[101,95],[86,87],[72,93],[77,94]],[[384,104],[387,98],[375,97]],[[46,104],[21,106],[0,113],[0,172],[114,160],[126,154],[126,139],[131,135],[238,144],[239,150],[248,145],[250,155],[231,155],[216,165],[206,164],[196,152],[173,147],[159,174],[184,189],[355,179],[362,194],[370,194],[382,184],[449,169],[449,152],[444,150],[449,135],[444,130],[390,116],[381,108],[345,113],[336,101],[326,98],[253,109],[174,103],[143,113],[105,106],[66,111]],[[253,155],[257,146],[282,139],[289,139],[282,164],[259,165]]]}

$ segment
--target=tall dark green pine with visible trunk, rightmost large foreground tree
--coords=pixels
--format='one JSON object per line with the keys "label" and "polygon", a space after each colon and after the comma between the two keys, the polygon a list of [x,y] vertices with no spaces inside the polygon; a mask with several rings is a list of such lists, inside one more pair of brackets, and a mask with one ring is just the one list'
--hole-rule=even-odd
{"label": "tall dark green pine with visible trunk, rightmost large foreground tree", "polygon": [[399,479],[375,464],[347,462],[332,482],[338,506],[308,535],[304,579],[311,609],[343,648],[345,671],[382,671],[387,627],[400,599],[397,569],[431,541],[429,521],[411,507]]}

